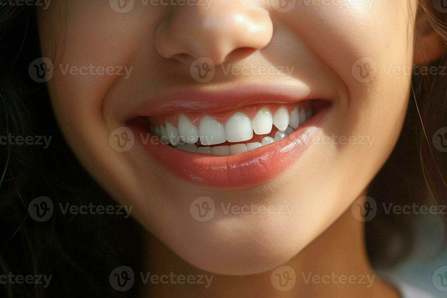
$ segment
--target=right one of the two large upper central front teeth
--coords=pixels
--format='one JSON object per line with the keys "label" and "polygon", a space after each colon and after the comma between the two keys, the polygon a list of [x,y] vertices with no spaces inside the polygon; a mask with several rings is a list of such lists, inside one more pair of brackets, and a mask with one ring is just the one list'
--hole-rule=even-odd
{"label": "right one of the two large upper central front teeth", "polygon": [[250,118],[244,113],[236,113],[225,123],[225,135],[228,142],[244,142],[253,138]]}

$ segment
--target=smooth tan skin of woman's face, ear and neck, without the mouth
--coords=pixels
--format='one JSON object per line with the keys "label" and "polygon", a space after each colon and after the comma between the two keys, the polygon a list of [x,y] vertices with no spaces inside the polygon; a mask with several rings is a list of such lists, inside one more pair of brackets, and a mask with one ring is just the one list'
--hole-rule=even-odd
{"label": "smooth tan skin of woman's face, ear and neck, without the mouth", "polygon": [[[84,167],[120,204],[134,206],[132,215],[148,232],[148,272],[215,274],[207,289],[149,283],[142,297],[398,297],[378,277],[367,288],[305,284],[302,273],[375,274],[367,260],[363,222],[354,217],[351,204],[366,195],[405,118],[410,76],[388,74],[388,68],[423,64],[423,55],[413,54],[417,1],[375,0],[370,8],[298,0],[287,13],[263,0],[213,0],[209,6],[135,0],[127,13],[114,11],[108,2],[53,0],[49,9],[39,9],[42,55],[55,65],[133,67],[127,79],[64,75],[57,68],[48,84],[55,115]],[[430,30],[424,30],[422,42],[429,59],[445,50]],[[216,65],[215,77],[206,84],[190,75],[191,63],[202,57]],[[352,71],[363,57],[377,65],[374,80],[367,83]],[[295,68],[285,82],[284,76],[224,75],[219,69],[228,63]],[[110,133],[126,126],[135,107],[157,94],[179,86],[215,90],[261,82],[304,84],[329,94],[332,107],[321,136],[369,136],[374,143],[370,148],[313,144],[275,180],[236,190],[179,180],[139,144],[124,153],[110,146]],[[202,196],[216,206],[294,209],[286,218],[230,216],[216,208],[212,220],[198,222],[190,204]],[[287,292],[270,282],[273,270],[283,264],[297,275]]]}

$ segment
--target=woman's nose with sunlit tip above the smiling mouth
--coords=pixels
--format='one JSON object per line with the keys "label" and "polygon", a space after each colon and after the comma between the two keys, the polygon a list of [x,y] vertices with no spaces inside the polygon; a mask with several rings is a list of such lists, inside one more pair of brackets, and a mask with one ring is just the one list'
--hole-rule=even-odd
{"label": "woman's nose with sunlit tip above the smiling mouth", "polygon": [[240,0],[201,3],[173,7],[160,21],[154,42],[162,57],[183,63],[208,57],[217,65],[270,42],[273,24],[261,8],[248,8]]}

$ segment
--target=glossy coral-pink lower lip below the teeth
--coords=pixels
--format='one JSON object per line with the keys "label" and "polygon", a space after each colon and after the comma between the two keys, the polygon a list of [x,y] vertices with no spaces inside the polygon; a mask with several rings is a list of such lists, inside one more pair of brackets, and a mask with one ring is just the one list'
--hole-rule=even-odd
{"label": "glossy coral-pink lower lip below the teeth", "polygon": [[[321,130],[328,109],[320,110],[286,138],[237,155],[216,156],[176,149],[157,142],[143,144],[159,164],[174,176],[212,188],[262,185],[285,172],[310,147]],[[147,134],[141,127],[137,133]]]}

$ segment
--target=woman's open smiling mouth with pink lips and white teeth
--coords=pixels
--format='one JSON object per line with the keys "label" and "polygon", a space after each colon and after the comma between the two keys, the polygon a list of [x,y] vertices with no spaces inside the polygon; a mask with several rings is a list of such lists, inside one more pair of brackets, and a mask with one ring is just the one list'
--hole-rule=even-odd
{"label": "woman's open smiling mouth with pink lips and white teeth", "polygon": [[331,106],[278,94],[270,102],[268,94],[229,99],[227,105],[208,99],[142,108],[127,125],[161,168],[213,188],[253,187],[285,172],[308,149]]}

